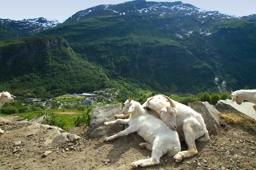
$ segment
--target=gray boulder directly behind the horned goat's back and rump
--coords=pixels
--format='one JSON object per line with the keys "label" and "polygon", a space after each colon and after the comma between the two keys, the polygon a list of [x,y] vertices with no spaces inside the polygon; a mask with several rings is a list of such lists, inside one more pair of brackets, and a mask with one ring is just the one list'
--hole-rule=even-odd
{"label": "gray boulder directly behind the horned goat's back and rump", "polygon": [[195,101],[192,103],[188,103],[188,106],[202,115],[209,134],[218,134],[220,127],[218,119],[219,111],[217,111],[208,102]]}

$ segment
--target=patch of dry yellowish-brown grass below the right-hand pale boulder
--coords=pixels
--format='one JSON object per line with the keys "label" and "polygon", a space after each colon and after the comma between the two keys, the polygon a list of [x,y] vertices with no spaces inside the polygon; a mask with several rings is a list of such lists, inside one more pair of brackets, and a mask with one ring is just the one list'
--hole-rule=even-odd
{"label": "patch of dry yellowish-brown grass below the right-hand pale boulder", "polygon": [[247,130],[253,130],[254,132],[256,132],[256,123],[254,119],[248,116],[239,113],[220,113],[219,118],[222,122],[225,122],[227,124],[241,125]]}

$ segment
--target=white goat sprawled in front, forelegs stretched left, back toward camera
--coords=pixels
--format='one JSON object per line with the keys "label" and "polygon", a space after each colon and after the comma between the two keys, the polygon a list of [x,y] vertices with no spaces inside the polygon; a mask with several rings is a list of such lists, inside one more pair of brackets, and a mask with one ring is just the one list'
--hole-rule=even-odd
{"label": "white goat sprawled in front, forelegs stretched left, back toward camera", "polygon": [[[177,113],[175,108],[173,111]],[[139,102],[131,99],[126,100],[124,114],[126,113],[130,113],[129,119],[116,119],[115,121],[104,123],[105,126],[115,123],[129,124],[127,129],[107,137],[106,141],[133,132],[137,132],[138,135],[143,137],[146,142],[140,143],[139,147],[151,150],[151,158],[133,162],[131,164],[133,168],[159,164],[160,157],[164,154],[174,156],[180,151],[180,140],[177,132],[170,130],[162,120],[145,111]]]}

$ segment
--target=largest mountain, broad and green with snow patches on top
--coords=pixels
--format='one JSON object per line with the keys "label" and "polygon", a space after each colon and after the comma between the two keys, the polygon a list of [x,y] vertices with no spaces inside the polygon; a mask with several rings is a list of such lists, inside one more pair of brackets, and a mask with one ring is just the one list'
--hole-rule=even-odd
{"label": "largest mountain, broad and green with snow patches on top", "polygon": [[221,93],[256,88],[254,17],[134,0],[78,11],[38,34],[64,37],[80,59],[136,88]]}

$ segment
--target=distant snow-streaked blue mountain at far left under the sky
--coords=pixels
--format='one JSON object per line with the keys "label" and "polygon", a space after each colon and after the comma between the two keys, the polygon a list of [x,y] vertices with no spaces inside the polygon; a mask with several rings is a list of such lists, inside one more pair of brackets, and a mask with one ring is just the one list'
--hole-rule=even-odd
{"label": "distant snow-streaked blue mountain at far left under the sky", "polygon": [[58,24],[58,20],[47,20],[43,17],[17,21],[0,18],[0,40],[30,37]]}

